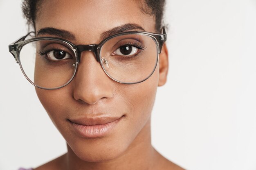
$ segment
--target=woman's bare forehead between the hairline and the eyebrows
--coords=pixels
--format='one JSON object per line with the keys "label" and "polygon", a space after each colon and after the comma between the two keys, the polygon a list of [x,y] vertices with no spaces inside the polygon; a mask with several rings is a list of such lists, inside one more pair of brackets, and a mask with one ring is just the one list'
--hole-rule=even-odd
{"label": "woman's bare forehead between the hairline and the eyebrows", "polygon": [[[36,18],[36,31],[53,27],[70,31],[78,41],[100,41],[99,35],[116,26],[133,23],[154,32],[153,16],[141,11],[139,0],[43,0]],[[84,42],[85,43],[85,42]]]}

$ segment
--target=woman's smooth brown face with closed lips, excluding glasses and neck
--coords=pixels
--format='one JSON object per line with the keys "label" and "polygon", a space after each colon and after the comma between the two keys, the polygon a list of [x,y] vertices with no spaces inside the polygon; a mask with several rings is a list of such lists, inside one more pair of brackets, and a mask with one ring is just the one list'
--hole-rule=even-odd
{"label": "woman's smooth brown face with closed lips, excluding glasses and neck", "polygon": [[[102,33],[124,24],[137,24],[155,32],[154,17],[144,14],[140,3],[43,0],[36,31],[47,27],[68,31],[75,39],[67,40],[76,45],[99,44]],[[163,50],[166,54],[165,46]],[[84,161],[103,161],[121,155],[136,142],[150,141],[150,113],[157,86],[164,84],[166,74],[159,76],[158,64],[153,75],[142,83],[117,83],[104,73],[94,54],[86,51],[81,53],[70,84],[56,90],[36,88],[36,92],[73,152]]]}

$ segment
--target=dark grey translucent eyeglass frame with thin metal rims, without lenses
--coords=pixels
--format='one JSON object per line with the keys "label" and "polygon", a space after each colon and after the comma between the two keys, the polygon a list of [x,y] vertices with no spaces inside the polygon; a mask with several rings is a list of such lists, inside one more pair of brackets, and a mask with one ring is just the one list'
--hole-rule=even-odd
{"label": "dark grey translucent eyeglass frame with thin metal rims, without lenses", "polygon": [[[111,35],[109,37],[106,37],[105,39],[103,39],[99,44],[90,44],[90,45],[74,45],[73,43],[71,43],[70,41],[63,39],[63,38],[59,38],[59,37],[35,37],[35,38],[31,38],[31,39],[26,39],[27,36],[29,36],[31,33],[35,33],[35,32],[30,32],[25,36],[20,37],[19,39],[17,39],[16,41],[14,41],[13,43],[9,44],[9,52],[11,52],[11,54],[13,55],[16,63],[18,63],[20,65],[20,69],[22,71],[22,73],[24,74],[24,76],[27,78],[27,80],[34,85],[35,87],[38,87],[40,89],[47,89],[47,90],[54,90],[54,89],[59,89],[61,87],[64,87],[65,85],[69,84],[77,71],[78,65],[80,63],[81,60],[81,53],[83,51],[92,51],[94,53],[94,56],[97,60],[97,62],[100,63],[101,68],[103,69],[103,71],[107,74],[107,76],[109,78],[111,78],[112,80],[118,82],[118,83],[122,83],[122,84],[137,84],[137,83],[141,83],[143,81],[146,81],[152,74],[153,72],[155,72],[155,68],[157,66],[158,60],[159,60],[159,54],[162,51],[162,46],[164,45],[164,42],[167,40],[167,34],[166,34],[166,30],[163,27],[162,28],[162,34],[157,34],[157,33],[150,33],[150,32],[146,32],[146,31],[128,31],[128,32],[123,32],[123,33],[117,33],[115,35]],[[153,69],[153,71],[151,72],[151,74],[145,78],[142,81],[136,82],[136,83],[124,83],[121,81],[116,80],[115,78],[112,78],[112,76],[110,76],[105,68],[103,67],[102,63],[100,62],[100,52],[101,52],[101,47],[103,46],[103,44],[105,44],[109,39],[112,39],[114,37],[120,36],[120,35],[128,35],[128,34],[142,34],[142,35],[147,35],[149,37],[151,37],[154,41],[155,44],[157,46],[157,62],[155,64],[155,68]],[[33,42],[33,41],[38,41],[38,40],[50,40],[50,41],[61,41],[64,42],[65,44],[69,45],[70,48],[73,50],[74,54],[75,54],[75,58],[76,58],[76,62],[74,63],[75,65],[75,71],[73,76],[70,78],[70,80],[65,83],[64,85],[61,85],[59,87],[54,87],[54,88],[45,88],[45,87],[40,87],[36,84],[34,84],[34,82],[32,82],[29,77],[27,77],[27,74],[25,73],[25,71],[22,68],[22,65],[20,63],[20,51],[22,49],[23,46],[25,46],[26,44]]]}

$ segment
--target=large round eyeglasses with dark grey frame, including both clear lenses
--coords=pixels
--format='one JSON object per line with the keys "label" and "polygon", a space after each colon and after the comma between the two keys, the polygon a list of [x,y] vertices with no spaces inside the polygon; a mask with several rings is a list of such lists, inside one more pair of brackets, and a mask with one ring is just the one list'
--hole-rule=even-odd
{"label": "large round eyeglasses with dark grey frame, including both clear lenses", "polygon": [[10,44],[9,51],[27,80],[41,89],[58,89],[70,83],[83,51],[92,51],[112,80],[124,84],[143,82],[155,71],[167,39],[165,28],[162,34],[130,31],[107,37],[99,44],[77,46],[56,37],[26,39],[28,35]]}

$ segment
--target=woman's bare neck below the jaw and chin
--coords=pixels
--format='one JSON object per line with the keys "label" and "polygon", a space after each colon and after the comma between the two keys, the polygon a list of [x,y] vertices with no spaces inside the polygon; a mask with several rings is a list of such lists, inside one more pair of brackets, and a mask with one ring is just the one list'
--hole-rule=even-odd
{"label": "woman's bare neck below the jaw and chin", "polygon": [[67,170],[149,170],[157,159],[157,152],[151,145],[150,119],[133,140],[130,146],[114,159],[101,162],[87,162],[81,160],[67,144],[65,164]]}

